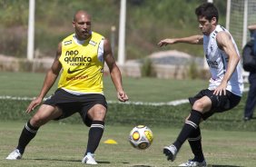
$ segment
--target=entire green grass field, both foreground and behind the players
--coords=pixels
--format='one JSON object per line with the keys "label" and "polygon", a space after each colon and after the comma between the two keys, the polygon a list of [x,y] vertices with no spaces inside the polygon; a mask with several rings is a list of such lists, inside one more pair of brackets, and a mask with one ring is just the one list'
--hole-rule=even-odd
{"label": "entire green grass field, both foreground and behind the players", "polygon": [[[0,96],[34,97],[42,87],[44,74],[1,72],[0,80]],[[105,77],[104,82],[107,100],[116,101],[110,77]],[[185,99],[206,87],[207,83],[202,80],[123,77],[124,88],[132,102]],[[55,88],[56,84],[49,94],[54,93]],[[241,121],[245,99],[246,93],[241,103],[231,112],[216,114],[207,123],[202,123],[203,151],[210,167],[255,166],[256,123],[254,120],[250,123]],[[23,160],[5,160],[7,154],[15,149],[25,124],[23,120],[31,116],[24,115],[27,103],[29,102],[0,100],[0,166],[84,166],[81,160],[87,143],[88,128],[80,120],[44,125],[28,145]],[[103,139],[95,152],[96,161],[99,166],[110,167],[177,166],[187,161],[192,158],[187,142],[182,146],[175,162],[166,161],[162,147],[175,140],[189,109],[189,104],[175,107],[111,104]],[[75,116],[70,118],[76,119]],[[114,120],[120,119],[123,119],[123,123],[115,123]],[[134,123],[147,123],[153,130],[153,145],[145,151],[133,149],[128,142],[128,134]],[[107,139],[113,139],[118,144],[103,143]]]}

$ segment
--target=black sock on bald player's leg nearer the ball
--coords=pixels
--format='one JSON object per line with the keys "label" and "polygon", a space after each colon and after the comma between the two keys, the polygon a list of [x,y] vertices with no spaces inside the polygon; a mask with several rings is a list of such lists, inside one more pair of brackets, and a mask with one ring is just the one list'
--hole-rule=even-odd
{"label": "black sock on bald player's leg nearer the ball", "polygon": [[88,152],[94,153],[102,139],[104,131],[104,122],[102,121],[93,121],[88,137],[87,150],[84,155]]}

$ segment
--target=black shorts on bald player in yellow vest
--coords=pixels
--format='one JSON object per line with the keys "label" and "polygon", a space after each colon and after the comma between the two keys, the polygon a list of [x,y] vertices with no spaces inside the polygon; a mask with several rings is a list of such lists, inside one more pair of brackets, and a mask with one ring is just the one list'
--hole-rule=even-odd
{"label": "black shorts on bald player in yellow vest", "polygon": [[63,89],[57,89],[52,96],[45,100],[44,104],[58,106],[62,109],[63,114],[54,120],[61,120],[74,113],[80,113],[84,124],[88,127],[91,126],[92,120],[87,116],[87,112],[95,104],[102,104],[107,109],[107,103],[103,94],[90,93],[75,95],[73,93],[68,93]]}

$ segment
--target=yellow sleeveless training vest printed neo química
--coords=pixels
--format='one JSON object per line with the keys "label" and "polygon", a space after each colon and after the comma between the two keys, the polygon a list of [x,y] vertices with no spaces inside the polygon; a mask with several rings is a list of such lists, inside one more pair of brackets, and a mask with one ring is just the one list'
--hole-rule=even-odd
{"label": "yellow sleeveless training vest printed neo qu\u00edmica", "polygon": [[78,93],[103,93],[103,60],[98,57],[103,35],[92,32],[84,44],[77,44],[71,34],[62,42],[59,58],[63,66],[58,88]]}

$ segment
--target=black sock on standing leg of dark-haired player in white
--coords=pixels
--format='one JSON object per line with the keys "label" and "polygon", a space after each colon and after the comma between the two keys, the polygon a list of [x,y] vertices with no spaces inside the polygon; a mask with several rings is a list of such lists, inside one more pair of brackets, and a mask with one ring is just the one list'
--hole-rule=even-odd
{"label": "black sock on standing leg of dark-haired player in white", "polygon": [[202,137],[200,127],[191,133],[191,135],[188,137],[188,142],[190,143],[192,152],[194,154],[193,160],[196,162],[202,162],[204,160],[204,156],[202,153]]}

